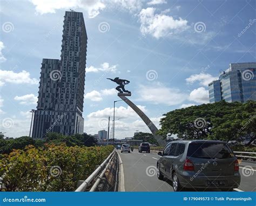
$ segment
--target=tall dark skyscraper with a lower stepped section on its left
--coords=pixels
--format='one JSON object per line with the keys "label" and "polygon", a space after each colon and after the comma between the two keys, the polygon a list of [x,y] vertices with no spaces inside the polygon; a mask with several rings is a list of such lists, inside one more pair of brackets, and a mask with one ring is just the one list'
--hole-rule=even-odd
{"label": "tall dark skyscraper with a lower stepped section on its left", "polygon": [[60,60],[42,62],[33,138],[49,132],[83,134],[87,35],[82,12],[65,12],[62,37]]}

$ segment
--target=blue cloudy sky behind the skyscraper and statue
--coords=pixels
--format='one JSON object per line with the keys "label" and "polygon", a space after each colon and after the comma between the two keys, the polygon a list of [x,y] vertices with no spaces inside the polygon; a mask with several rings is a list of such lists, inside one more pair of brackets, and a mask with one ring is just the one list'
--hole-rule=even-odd
{"label": "blue cloudy sky behind the skyscraper and statue", "polygon": [[[208,83],[230,63],[254,62],[255,1],[0,1],[0,132],[29,135],[43,58],[60,59],[63,16],[83,12],[88,37],[84,132],[107,130],[115,83],[158,128],[163,114],[208,103]],[[115,138],[150,132],[116,102]]]}

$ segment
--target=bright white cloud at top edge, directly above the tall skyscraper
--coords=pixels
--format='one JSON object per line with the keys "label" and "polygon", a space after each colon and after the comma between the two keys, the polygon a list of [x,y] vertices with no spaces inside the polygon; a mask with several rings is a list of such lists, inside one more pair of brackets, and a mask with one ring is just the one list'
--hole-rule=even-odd
{"label": "bright white cloud at top edge, directly above the tall skyscraper", "polygon": [[36,6],[36,11],[41,15],[44,13],[55,13],[57,9],[78,9],[82,8],[88,12],[89,18],[96,17],[106,6],[100,0],[30,0]]}

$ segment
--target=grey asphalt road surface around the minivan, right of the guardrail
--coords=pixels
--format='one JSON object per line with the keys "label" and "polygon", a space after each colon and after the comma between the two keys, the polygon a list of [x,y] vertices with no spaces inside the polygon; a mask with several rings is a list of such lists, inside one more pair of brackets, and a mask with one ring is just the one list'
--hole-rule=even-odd
{"label": "grey asphalt road surface around the minivan, right of the guardrail", "polygon": [[[118,154],[123,161],[125,191],[173,191],[170,181],[157,178],[157,153],[138,153],[138,149],[134,149],[132,153],[120,153],[118,150]],[[241,184],[238,189],[255,191],[256,169],[242,168],[245,165],[240,166]]]}

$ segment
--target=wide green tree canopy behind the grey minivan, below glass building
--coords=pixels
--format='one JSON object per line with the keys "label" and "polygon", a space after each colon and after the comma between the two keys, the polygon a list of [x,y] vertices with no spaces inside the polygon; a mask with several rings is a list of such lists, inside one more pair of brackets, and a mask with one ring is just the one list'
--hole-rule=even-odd
{"label": "wide green tree canopy behind the grey minivan, below glass building", "polygon": [[255,140],[256,102],[248,101],[191,106],[164,114],[158,134],[177,134],[181,139]]}

